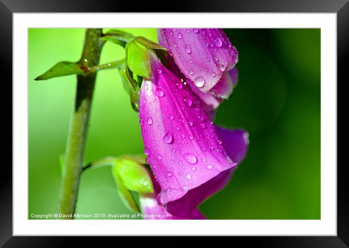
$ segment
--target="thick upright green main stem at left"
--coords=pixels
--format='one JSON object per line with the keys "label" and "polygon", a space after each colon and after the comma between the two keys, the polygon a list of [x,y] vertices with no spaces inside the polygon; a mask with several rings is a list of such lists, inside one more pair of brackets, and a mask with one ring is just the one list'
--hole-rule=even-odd
{"label": "thick upright green main stem at left", "polygon": [[[104,44],[101,28],[86,29],[85,43],[79,61],[81,67],[96,66]],[[65,165],[59,193],[59,219],[73,219],[86,142],[86,134],[95,88],[96,73],[79,75],[75,106],[73,109],[65,150]]]}

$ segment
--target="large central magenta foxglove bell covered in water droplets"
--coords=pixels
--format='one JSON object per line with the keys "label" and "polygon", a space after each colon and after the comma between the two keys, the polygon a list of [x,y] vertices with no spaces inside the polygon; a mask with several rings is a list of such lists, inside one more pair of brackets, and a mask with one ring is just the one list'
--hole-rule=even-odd
{"label": "large central magenta foxglove bell covered in water droplets", "polygon": [[160,204],[177,200],[232,168],[212,122],[188,85],[157,59],[144,79],[139,117],[144,152],[161,186]]}

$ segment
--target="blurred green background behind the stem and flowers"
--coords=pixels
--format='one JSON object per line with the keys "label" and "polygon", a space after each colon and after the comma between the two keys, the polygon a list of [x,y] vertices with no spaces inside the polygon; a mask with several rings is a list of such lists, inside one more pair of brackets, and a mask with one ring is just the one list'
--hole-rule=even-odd
{"label": "blurred green background behind the stem and flowers", "polygon": [[[157,41],[155,29],[125,29]],[[239,51],[239,83],[215,121],[250,133],[230,184],[199,208],[209,219],[320,219],[320,29],[226,29]],[[78,61],[84,29],[28,30],[29,215],[55,213],[76,76],[34,81]],[[100,63],[124,57],[107,42]],[[98,72],[85,160],[142,153],[136,112],[117,70]],[[77,213],[132,214],[109,167],[81,176]]]}

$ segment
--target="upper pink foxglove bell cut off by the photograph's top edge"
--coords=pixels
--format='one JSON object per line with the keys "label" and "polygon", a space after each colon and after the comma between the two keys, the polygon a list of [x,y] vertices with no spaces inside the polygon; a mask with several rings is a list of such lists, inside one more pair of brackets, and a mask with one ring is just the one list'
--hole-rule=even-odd
{"label": "upper pink foxglove bell cut off by the photograph's top edge", "polygon": [[208,92],[238,62],[238,52],[222,29],[159,29],[160,45],[170,51],[180,71]]}

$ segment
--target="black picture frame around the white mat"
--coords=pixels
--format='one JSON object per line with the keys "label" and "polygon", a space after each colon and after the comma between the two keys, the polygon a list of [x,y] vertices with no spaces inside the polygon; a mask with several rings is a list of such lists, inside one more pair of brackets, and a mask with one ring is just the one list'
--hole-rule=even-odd
{"label": "black picture frame around the white mat", "polygon": [[[136,6],[132,6],[136,5]],[[12,81],[12,15],[13,13],[32,12],[132,12],[155,11],[154,1],[130,4],[120,1],[97,0],[0,0],[0,68],[3,85]],[[314,12],[337,13],[337,85],[348,83],[349,64],[349,2],[348,0],[237,0],[210,1],[187,0],[185,4],[175,4],[173,8],[161,12]],[[170,6],[170,5],[169,5]],[[148,8],[147,8],[148,7]],[[322,68],[324,69],[324,68]],[[7,76],[7,77],[6,77]],[[337,88],[338,89],[338,88]],[[12,92],[12,87],[11,87]],[[8,94],[9,95],[9,94]],[[3,100],[4,98],[2,98]],[[8,106],[9,101],[5,101]],[[346,106],[337,100],[338,107]],[[9,108],[9,107],[7,107]],[[341,113],[341,112],[337,112]],[[337,120],[338,122],[338,120]],[[11,122],[12,124],[12,122]],[[346,125],[347,126],[347,125]],[[13,130],[13,129],[12,129]],[[344,130],[341,129],[342,131]],[[341,133],[342,139],[348,137]],[[12,142],[11,142],[12,144]],[[7,145],[10,147],[10,145]],[[12,147],[12,146],[11,146]],[[338,149],[344,149],[337,145]],[[4,155],[5,156],[5,155]],[[7,155],[6,155],[7,156]],[[339,158],[337,152],[337,159]],[[348,163],[348,162],[347,162]],[[267,247],[348,247],[349,246],[349,194],[348,165],[337,163],[337,236],[315,237],[236,237],[248,245],[258,242]],[[7,166],[4,166],[7,165]],[[4,247],[62,247],[71,244],[72,237],[19,237],[12,236],[12,169],[9,163],[3,163],[0,180],[0,246]],[[234,237],[235,238],[235,237]],[[103,238],[104,239],[104,238]],[[91,242],[89,238],[80,238]],[[172,242],[171,242],[172,243]],[[175,245],[176,241],[172,245]],[[90,243],[92,245],[92,243]]]}

